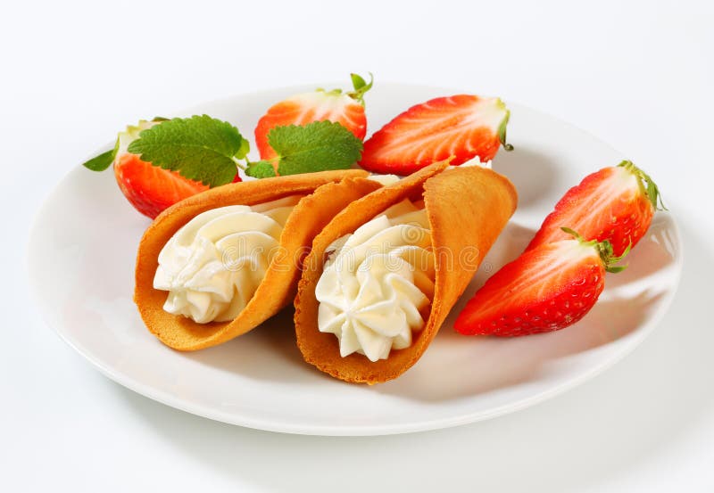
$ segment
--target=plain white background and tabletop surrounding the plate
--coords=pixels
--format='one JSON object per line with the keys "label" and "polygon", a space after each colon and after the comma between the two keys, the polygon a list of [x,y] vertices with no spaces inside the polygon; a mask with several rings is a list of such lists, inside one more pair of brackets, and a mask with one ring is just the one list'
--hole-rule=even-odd
{"label": "plain white background and tabletop surrounding the plate", "polygon": [[[3,489],[714,490],[712,26],[704,1],[5,5]],[[350,439],[252,431],[165,407],[104,378],[43,324],[26,282],[33,214],[118,129],[368,70],[377,83],[526,103],[656,177],[684,235],[685,272],[652,336],[605,374],[525,411]]]}

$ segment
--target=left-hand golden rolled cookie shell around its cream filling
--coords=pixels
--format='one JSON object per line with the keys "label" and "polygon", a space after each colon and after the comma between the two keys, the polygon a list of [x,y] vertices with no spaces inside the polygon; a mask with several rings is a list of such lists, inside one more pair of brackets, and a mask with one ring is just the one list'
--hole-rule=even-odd
{"label": "left-hand golden rolled cookie shell around its cream filling", "polygon": [[[134,300],[146,327],[173,349],[195,350],[220,344],[260,325],[295,296],[300,265],[312,239],[351,201],[381,185],[358,170],[324,171],[287,177],[263,178],[224,185],[189,197],[162,212],[149,226],[137,252]],[[167,292],[154,289],[159,254],[171,237],[207,210],[230,206],[257,206],[300,195],[279,233],[279,248],[253,297],[237,316],[226,322],[196,323],[192,318],[163,309]]]}

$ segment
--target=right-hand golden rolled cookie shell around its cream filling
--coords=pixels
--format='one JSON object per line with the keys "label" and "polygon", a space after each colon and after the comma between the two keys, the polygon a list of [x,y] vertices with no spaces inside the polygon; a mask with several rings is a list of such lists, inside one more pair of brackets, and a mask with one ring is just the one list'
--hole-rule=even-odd
{"label": "right-hand golden rolled cookie shell around its cream filling", "polygon": [[[490,169],[445,168],[445,163],[436,163],[394,185],[380,188],[358,201],[353,201],[315,237],[311,253],[304,261],[303,276],[295,298],[297,344],[305,361],[347,382],[371,384],[386,382],[403,374],[427,349],[449,310],[466,289],[486,252],[511,218],[517,202],[517,194],[511,182]],[[424,300],[422,308],[419,308],[424,321],[423,327],[410,335],[410,345],[403,349],[393,347],[385,359],[370,360],[365,356],[366,352],[352,352],[345,357],[341,356],[345,325],[343,329],[336,331],[341,334],[340,339],[336,337],[336,333],[320,332],[320,301],[316,296],[320,276],[328,268],[326,260],[335,255],[332,250],[335,249],[335,244],[339,244],[333,242],[343,238],[345,234],[353,234],[360,226],[404,199],[419,201],[422,198],[430,229],[430,246],[434,252],[433,268],[430,271],[434,281],[433,292],[429,292],[431,302]],[[330,245],[333,246],[328,250]],[[336,263],[336,260],[327,261]],[[362,274],[361,280],[364,279]],[[401,279],[399,282],[402,282]],[[353,286],[353,290],[363,296],[365,284],[361,284],[359,289]],[[430,290],[431,285],[426,291]],[[386,288],[386,292],[394,293],[394,289]],[[419,295],[417,292],[417,298]],[[372,299],[369,302],[374,307],[380,307],[379,300]],[[386,310],[388,312],[388,308]],[[408,312],[407,318],[413,318],[414,313],[414,310]],[[333,312],[328,312],[328,316],[330,314],[334,315]],[[343,317],[339,319],[341,321],[349,319],[345,317],[364,317],[364,314],[347,308],[345,313],[339,316]],[[363,318],[362,327],[374,322],[369,316]],[[389,323],[383,326],[387,331],[390,330]],[[354,333],[357,332],[357,329],[354,329]],[[351,336],[352,341],[357,341],[359,335]],[[347,341],[347,344],[349,342]]]}

